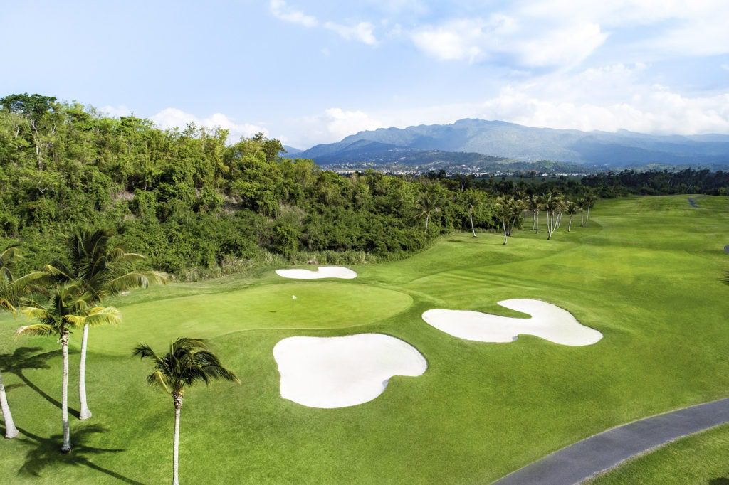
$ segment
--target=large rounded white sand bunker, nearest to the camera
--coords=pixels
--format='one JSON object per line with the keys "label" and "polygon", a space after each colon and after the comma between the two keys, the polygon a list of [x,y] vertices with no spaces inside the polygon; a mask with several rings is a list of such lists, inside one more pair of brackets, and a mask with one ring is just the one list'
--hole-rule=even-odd
{"label": "large rounded white sand bunker, nearest to the camera", "polygon": [[343,408],[381,395],[391,376],[428,367],[412,345],[383,334],[295,336],[273,347],[281,397],[310,408]]}

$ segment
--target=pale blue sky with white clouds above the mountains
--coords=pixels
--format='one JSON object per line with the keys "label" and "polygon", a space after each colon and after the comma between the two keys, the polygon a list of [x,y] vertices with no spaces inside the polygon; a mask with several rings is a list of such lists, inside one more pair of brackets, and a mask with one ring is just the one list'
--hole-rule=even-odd
{"label": "pale blue sky with white clouds above the mountains", "polygon": [[292,146],[464,117],[729,133],[726,0],[15,1],[0,95]]}

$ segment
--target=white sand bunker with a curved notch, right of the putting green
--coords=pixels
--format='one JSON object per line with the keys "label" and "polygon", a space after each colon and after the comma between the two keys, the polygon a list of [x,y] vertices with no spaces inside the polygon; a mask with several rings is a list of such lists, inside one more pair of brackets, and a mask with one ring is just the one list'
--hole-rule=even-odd
{"label": "white sand bunker with a curved notch, right of the putting green", "polygon": [[545,301],[510,299],[502,307],[527,313],[531,318],[500,317],[468,310],[432,309],[423,320],[446,334],[477,342],[514,342],[519,334],[529,334],[562,345],[596,344],[602,334],[578,322],[565,309]]}

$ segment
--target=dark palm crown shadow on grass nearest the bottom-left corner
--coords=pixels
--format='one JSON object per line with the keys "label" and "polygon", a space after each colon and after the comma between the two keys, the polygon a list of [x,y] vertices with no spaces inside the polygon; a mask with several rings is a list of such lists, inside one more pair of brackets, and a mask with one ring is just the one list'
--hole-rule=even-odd
{"label": "dark palm crown shadow on grass nearest the bottom-left corner", "polygon": [[[137,484],[142,485],[141,482],[132,480],[131,478],[120,475],[113,470],[96,465],[94,462],[89,460],[87,455],[103,454],[103,453],[121,453],[123,449],[108,449],[108,448],[95,448],[93,446],[85,446],[84,441],[90,435],[94,433],[106,433],[106,428],[99,425],[85,425],[77,427],[77,429],[71,430],[71,444],[73,449],[71,453],[61,453],[61,443],[63,442],[63,434],[58,433],[52,435],[50,438],[42,438],[39,435],[24,430],[19,427],[20,433],[25,435],[24,438],[15,438],[24,446],[28,446],[28,452],[26,452],[26,460],[23,465],[17,470],[17,474],[20,476],[33,476],[40,477],[41,472],[48,467],[54,465],[70,465],[73,467],[87,467],[92,470],[96,470],[99,473],[117,478],[117,480],[123,481],[126,484]],[[58,473],[58,470],[53,470],[52,473]],[[63,473],[61,471],[61,473]]]}

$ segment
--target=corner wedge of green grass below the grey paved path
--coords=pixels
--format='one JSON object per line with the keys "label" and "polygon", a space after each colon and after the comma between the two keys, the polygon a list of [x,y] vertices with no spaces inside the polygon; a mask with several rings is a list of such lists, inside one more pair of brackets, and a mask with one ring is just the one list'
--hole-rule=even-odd
{"label": "corner wedge of green grass below the grey paved path", "polygon": [[590,485],[729,484],[729,425],[679,439],[598,476]]}

